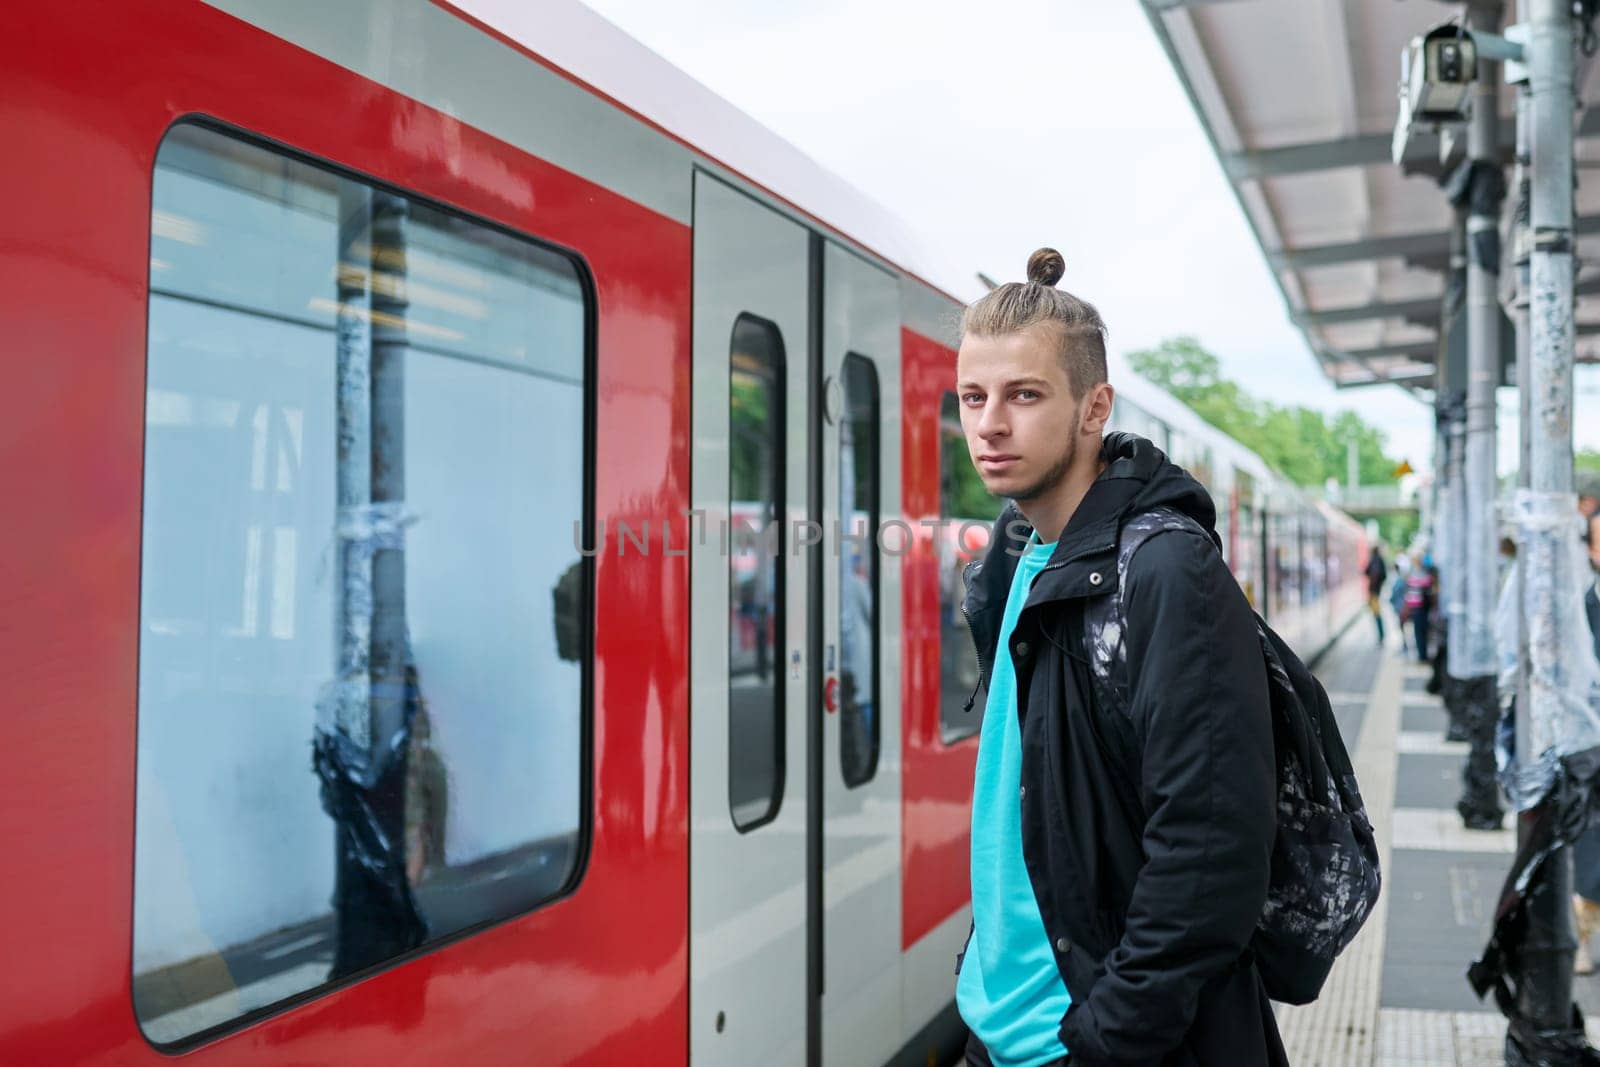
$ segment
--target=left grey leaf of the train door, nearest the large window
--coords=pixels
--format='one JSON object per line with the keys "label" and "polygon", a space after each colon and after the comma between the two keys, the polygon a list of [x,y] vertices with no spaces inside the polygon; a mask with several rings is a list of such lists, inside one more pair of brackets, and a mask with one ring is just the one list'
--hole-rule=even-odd
{"label": "left grey leaf of the train door, nearest the large window", "polygon": [[811,237],[694,178],[690,1061],[806,1062]]}

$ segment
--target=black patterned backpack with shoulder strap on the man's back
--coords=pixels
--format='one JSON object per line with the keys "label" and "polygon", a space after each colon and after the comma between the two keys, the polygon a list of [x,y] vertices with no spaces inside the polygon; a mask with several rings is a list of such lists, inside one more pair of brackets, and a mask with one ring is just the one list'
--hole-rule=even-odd
{"label": "black patterned backpack with shoulder strap on the man's back", "polygon": [[[1170,530],[1211,541],[1197,522],[1171,509],[1128,520],[1118,539],[1118,589],[1102,597],[1093,611],[1120,616],[1120,585],[1128,560],[1152,536]],[[1117,624],[1122,622],[1117,617]],[[1091,641],[1091,661],[1093,629],[1086,625],[1085,635]],[[1256,632],[1272,702],[1278,827],[1267,902],[1250,950],[1267,997],[1306,1005],[1322,992],[1333,960],[1378,902],[1378,841],[1326,691],[1259,614]]]}

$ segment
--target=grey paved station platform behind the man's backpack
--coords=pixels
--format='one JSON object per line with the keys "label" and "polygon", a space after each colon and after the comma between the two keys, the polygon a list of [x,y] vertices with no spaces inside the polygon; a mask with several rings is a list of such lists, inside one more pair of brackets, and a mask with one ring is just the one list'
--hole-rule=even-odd
{"label": "grey paved station platform behind the man's backpack", "polygon": [[[1504,1064],[1506,1021],[1466,971],[1488,939],[1515,853],[1514,819],[1474,832],[1454,805],[1467,745],[1446,742],[1429,669],[1402,656],[1389,619],[1378,648],[1365,614],[1317,664],[1378,835],[1384,891],[1339,958],[1322,998],[1278,1006],[1296,1067],[1490,1067]],[[1589,1019],[1600,976],[1574,977]]]}

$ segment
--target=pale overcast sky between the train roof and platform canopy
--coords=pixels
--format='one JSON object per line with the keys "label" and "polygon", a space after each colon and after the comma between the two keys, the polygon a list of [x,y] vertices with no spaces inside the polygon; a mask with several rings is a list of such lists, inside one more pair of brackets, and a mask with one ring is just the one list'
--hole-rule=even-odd
{"label": "pale overcast sky between the train roof and platform canopy", "polygon": [[[944,261],[1011,282],[1030,251],[1059,248],[1061,286],[1099,307],[1112,349],[1195,334],[1251,392],[1355,408],[1397,458],[1432,464],[1429,408],[1323,378],[1136,0],[587,3]],[[1595,405],[1586,384],[1579,414]],[[1501,411],[1514,467],[1509,390]],[[1600,419],[1584,422],[1579,443],[1600,446]]]}

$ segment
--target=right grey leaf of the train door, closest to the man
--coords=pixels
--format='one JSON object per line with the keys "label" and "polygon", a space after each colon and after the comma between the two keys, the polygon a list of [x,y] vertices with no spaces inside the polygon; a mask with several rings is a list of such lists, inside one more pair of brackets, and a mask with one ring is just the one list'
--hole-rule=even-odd
{"label": "right grey leaf of the train door, closest to the man", "polygon": [[899,288],[822,250],[822,1062],[901,1027]]}

